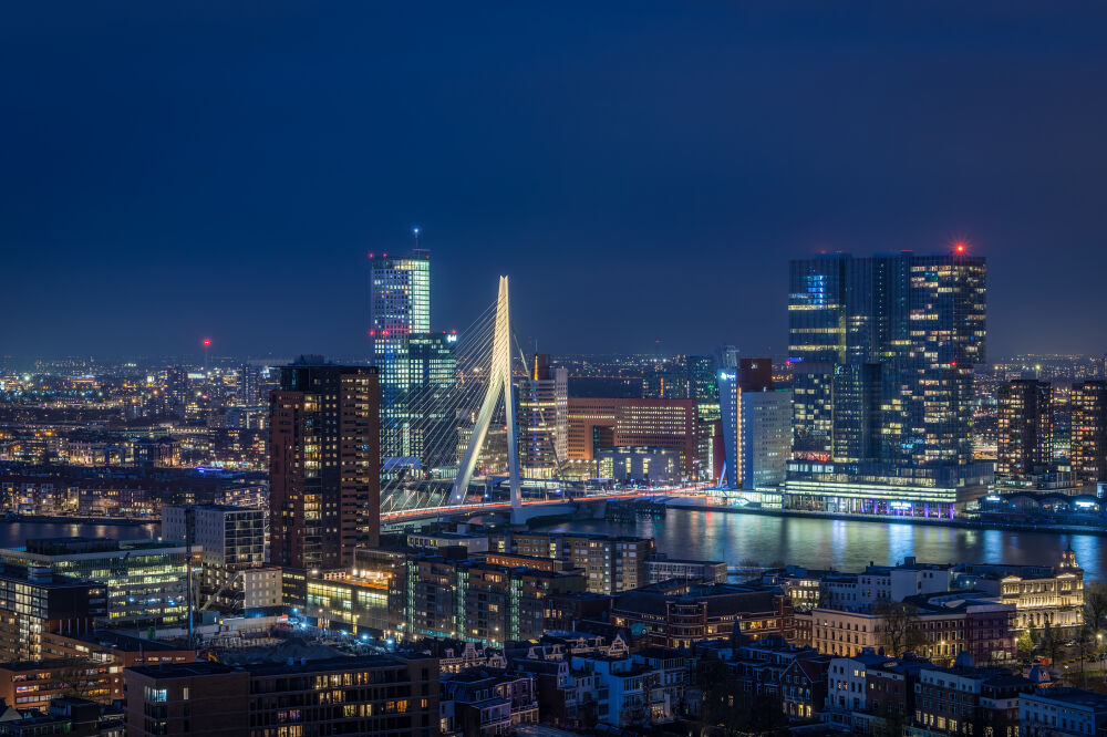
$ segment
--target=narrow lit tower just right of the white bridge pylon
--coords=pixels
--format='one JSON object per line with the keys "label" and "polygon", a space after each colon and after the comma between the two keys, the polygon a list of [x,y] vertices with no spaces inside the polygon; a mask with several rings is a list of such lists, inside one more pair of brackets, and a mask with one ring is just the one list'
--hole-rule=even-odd
{"label": "narrow lit tower just right of the white bridge pylon", "polygon": [[526,478],[555,478],[569,458],[569,372],[550,366],[548,353],[534,357],[519,382],[519,459]]}

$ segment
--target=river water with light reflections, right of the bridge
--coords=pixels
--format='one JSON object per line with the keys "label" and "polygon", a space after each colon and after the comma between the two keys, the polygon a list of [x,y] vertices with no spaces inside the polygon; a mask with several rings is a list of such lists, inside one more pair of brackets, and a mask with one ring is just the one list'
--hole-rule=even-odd
{"label": "river water with light reflections, right of the bridge", "polygon": [[1053,565],[1069,544],[1089,580],[1107,580],[1107,537],[1008,532],[901,522],[769,517],[669,509],[664,519],[573,521],[540,529],[653,538],[670,558],[721,560],[731,565],[785,561],[807,568],[860,571],[908,556],[928,563]]}

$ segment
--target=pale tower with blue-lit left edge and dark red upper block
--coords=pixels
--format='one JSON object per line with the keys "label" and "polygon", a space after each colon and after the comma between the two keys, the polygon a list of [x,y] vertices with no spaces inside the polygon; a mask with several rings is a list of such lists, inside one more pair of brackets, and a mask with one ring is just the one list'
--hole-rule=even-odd
{"label": "pale tower with blue-lit left edge and dark red upper block", "polygon": [[742,359],[718,372],[726,486],[778,487],[792,450],[792,392],[773,385],[770,359]]}

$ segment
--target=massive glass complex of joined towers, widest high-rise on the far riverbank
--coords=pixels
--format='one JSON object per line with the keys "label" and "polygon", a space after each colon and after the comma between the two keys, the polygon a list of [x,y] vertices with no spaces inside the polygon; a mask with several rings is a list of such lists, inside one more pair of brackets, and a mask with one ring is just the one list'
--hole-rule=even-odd
{"label": "massive glass complex of joined towers, widest high-rise on the far riverbank", "polygon": [[970,436],[985,263],[961,251],[790,262],[787,506],[949,518],[987,491]]}

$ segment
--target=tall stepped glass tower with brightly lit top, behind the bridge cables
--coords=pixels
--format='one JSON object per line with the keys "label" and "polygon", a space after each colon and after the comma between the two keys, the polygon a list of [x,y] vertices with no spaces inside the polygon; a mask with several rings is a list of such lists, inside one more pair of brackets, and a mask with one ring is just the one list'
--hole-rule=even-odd
{"label": "tall stepped glass tower with brightly lit top, behind the bridge cables", "polygon": [[[431,333],[431,256],[370,255],[372,362],[381,377],[381,457],[386,476],[453,463],[444,437],[454,417],[435,414],[455,377],[455,333]],[[449,448],[449,453],[442,451]]]}

